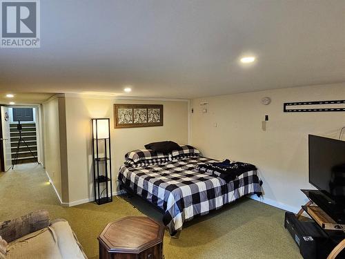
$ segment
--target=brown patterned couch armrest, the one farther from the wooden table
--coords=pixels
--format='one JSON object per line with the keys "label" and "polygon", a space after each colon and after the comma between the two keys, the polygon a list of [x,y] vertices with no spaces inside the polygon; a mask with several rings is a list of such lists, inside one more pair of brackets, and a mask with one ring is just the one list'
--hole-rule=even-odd
{"label": "brown patterned couch armrest, the one farther from the wooden table", "polygon": [[0,236],[9,243],[29,233],[49,227],[49,224],[48,211],[34,211],[13,220],[0,222]]}

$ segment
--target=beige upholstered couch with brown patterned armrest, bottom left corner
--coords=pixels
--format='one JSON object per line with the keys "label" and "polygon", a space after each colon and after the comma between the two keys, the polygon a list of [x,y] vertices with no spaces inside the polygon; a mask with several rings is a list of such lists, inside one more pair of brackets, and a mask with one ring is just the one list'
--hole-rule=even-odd
{"label": "beige upholstered couch with brown patterned armrest, bottom left corner", "polygon": [[0,222],[0,259],[85,259],[66,220],[50,222],[48,211],[35,211]]}

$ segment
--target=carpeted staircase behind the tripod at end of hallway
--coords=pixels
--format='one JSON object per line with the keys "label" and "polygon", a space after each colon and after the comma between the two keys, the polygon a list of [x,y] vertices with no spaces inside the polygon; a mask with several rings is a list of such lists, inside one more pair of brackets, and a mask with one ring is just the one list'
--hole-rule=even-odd
{"label": "carpeted staircase behind the tripod at end of hallway", "polygon": [[[37,138],[36,138],[36,124],[34,123],[22,123],[23,131],[21,131],[21,137],[25,140],[26,144],[30,147],[34,158],[26,144],[21,142],[19,146],[19,155],[17,164],[37,162]],[[19,131],[17,130],[17,124],[10,124],[10,136],[11,136],[11,153],[12,153],[12,164],[17,151],[17,145],[19,141]]]}

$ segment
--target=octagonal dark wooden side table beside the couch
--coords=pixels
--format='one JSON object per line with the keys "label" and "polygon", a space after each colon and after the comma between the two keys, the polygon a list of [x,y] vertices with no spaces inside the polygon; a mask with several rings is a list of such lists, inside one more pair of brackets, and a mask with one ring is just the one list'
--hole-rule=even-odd
{"label": "octagonal dark wooden side table beside the couch", "polygon": [[164,226],[130,216],[109,223],[99,235],[100,259],[163,259]]}

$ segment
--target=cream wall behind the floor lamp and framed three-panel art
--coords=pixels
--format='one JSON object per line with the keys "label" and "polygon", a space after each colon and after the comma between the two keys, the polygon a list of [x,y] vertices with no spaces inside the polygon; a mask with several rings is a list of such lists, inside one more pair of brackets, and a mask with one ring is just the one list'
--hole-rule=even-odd
{"label": "cream wall behind the floor lamp and framed three-panel art", "polygon": [[[114,104],[163,104],[164,126],[114,128]],[[161,140],[188,142],[188,103],[143,100],[113,100],[66,97],[68,185],[70,204],[87,202],[93,197],[91,119],[109,117],[112,138],[112,179],[116,191],[117,174],[124,155],[144,144]]]}

